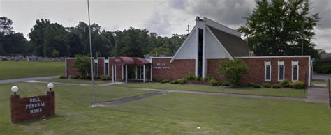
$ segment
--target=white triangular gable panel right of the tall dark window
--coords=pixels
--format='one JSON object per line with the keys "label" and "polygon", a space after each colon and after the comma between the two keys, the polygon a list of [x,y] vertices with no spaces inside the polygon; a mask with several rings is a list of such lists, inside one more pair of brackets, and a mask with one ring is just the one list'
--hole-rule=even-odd
{"label": "white triangular gable panel right of the tall dark window", "polygon": [[205,34],[205,55],[207,59],[231,58],[219,40],[212,35],[212,31],[206,29]]}

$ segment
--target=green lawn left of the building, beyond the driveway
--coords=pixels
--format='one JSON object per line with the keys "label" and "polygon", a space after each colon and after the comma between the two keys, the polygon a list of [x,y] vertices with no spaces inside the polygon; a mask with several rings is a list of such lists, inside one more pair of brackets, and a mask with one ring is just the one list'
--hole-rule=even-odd
{"label": "green lawn left of the building, beyond the driveway", "polygon": [[64,62],[0,61],[0,80],[64,74]]}

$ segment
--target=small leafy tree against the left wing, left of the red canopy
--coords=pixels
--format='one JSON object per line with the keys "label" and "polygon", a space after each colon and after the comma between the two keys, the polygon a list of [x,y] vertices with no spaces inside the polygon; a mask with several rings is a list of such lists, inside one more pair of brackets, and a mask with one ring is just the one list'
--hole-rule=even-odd
{"label": "small leafy tree against the left wing, left of the red canopy", "polygon": [[86,79],[87,73],[91,70],[91,60],[88,56],[77,55],[73,67],[82,74],[82,78]]}

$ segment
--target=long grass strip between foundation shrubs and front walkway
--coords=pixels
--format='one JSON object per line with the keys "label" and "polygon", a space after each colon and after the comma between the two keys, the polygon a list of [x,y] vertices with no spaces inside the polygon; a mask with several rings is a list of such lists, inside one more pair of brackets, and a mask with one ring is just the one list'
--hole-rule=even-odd
{"label": "long grass strip between foundation shrubs and front walkway", "polygon": [[133,87],[133,88],[156,88],[169,90],[192,90],[205,91],[214,93],[240,93],[249,95],[272,95],[280,97],[300,97],[306,98],[304,90],[295,90],[289,88],[225,88],[218,86],[194,85],[194,84],[161,84],[161,83],[145,83],[145,84],[115,84],[114,86]]}

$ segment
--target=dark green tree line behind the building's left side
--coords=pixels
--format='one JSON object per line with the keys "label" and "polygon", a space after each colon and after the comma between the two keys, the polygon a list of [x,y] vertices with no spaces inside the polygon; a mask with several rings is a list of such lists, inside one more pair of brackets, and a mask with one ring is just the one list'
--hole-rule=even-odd
{"label": "dark green tree line behind the building's left side", "polygon": [[[0,55],[36,55],[47,57],[73,57],[89,55],[89,26],[79,22],[77,26],[65,27],[49,19],[37,19],[28,33],[13,31],[13,21],[0,17]],[[123,31],[101,30],[91,24],[92,53],[98,57],[108,56],[172,56],[182,45],[186,35],[174,34],[170,38],[151,33],[147,29],[130,27]]]}

